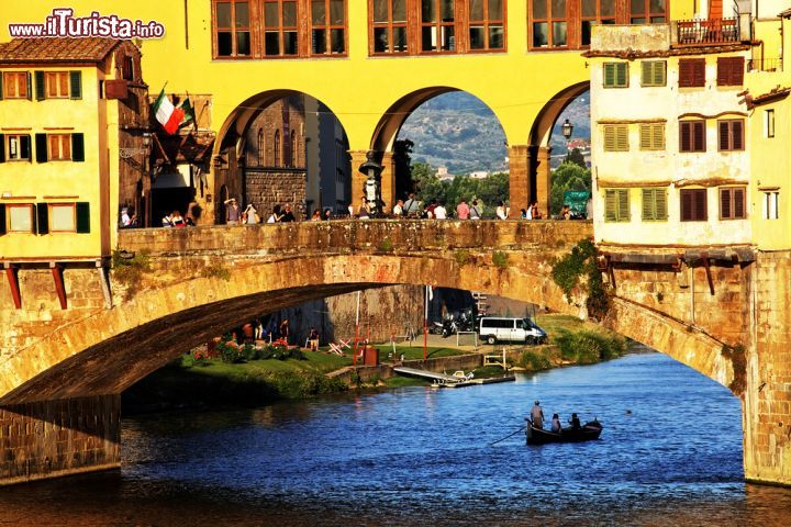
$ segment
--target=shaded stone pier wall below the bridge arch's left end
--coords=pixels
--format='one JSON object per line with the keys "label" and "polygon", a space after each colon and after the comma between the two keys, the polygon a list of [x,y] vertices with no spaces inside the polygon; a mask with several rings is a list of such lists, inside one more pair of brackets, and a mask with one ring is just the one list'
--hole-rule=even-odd
{"label": "shaded stone pier wall below the bridge arch's left end", "polygon": [[0,485],[121,466],[121,397],[0,406]]}

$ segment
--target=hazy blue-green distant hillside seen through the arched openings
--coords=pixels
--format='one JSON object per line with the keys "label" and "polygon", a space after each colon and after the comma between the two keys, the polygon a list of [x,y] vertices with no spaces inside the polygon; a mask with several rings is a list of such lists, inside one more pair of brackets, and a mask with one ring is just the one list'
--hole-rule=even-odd
{"label": "hazy blue-green distant hillside seen through the arched openings", "polygon": [[[590,138],[587,93],[575,100],[556,123],[552,136],[556,155],[566,152],[560,124],[567,117],[575,125],[575,138]],[[422,104],[409,116],[398,138],[414,143],[414,161],[444,166],[454,175],[508,169],[505,134],[500,122],[478,98],[464,91],[435,97]]]}

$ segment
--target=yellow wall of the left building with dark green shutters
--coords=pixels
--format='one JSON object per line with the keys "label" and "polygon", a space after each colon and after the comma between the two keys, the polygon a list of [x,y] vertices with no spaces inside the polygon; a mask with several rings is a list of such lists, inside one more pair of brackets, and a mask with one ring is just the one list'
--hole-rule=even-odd
{"label": "yellow wall of the left building with dark green shutters", "polygon": [[[49,233],[46,235],[8,233],[0,237],[0,258],[35,259],[93,258],[108,255],[111,246],[107,211],[110,180],[118,180],[118,165],[111,177],[107,145],[118,143],[118,127],[108,125],[107,101],[98,94],[96,67],[2,68],[2,71],[74,71],[82,74],[82,98],[71,99],[4,99],[0,101],[0,133],[21,133],[31,137],[31,161],[0,164],[0,203],[90,203],[90,233]],[[35,82],[33,82],[35,85]],[[115,114],[112,110],[110,116]],[[116,122],[118,119],[115,117]],[[8,128],[30,128],[9,132]],[[46,130],[48,128],[48,130]],[[62,130],[53,130],[62,128]],[[85,139],[85,161],[70,160],[36,162],[36,133],[81,133]],[[108,137],[108,133],[110,137]],[[118,156],[115,156],[118,159]],[[115,183],[118,202],[118,183]],[[13,199],[30,197],[30,199]],[[60,197],[60,198],[58,198]]]}

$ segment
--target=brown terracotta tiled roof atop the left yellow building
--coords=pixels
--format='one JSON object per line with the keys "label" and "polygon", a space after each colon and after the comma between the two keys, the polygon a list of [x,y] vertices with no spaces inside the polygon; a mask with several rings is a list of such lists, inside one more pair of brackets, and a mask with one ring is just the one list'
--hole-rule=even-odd
{"label": "brown terracotta tiled roof atop the left yellow building", "polygon": [[0,64],[98,63],[120,42],[114,38],[14,38],[0,43]]}

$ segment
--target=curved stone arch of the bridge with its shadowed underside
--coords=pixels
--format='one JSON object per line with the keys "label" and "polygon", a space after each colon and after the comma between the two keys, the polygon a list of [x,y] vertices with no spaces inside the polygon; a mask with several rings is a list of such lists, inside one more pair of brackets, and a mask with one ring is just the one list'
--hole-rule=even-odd
{"label": "curved stone arch of the bridge with its shadowed underside", "polygon": [[[309,271],[296,272],[296,266]],[[546,266],[460,265],[453,253],[248,262],[234,266],[227,279],[197,276],[144,290],[43,337],[0,365],[0,404],[120,393],[241,321],[308,300],[397,283],[461,288],[582,314],[566,302]],[[624,301],[616,301],[612,313],[604,324],[619,333],[722,384],[733,381],[733,365],[721,344],[705,334]]]}

